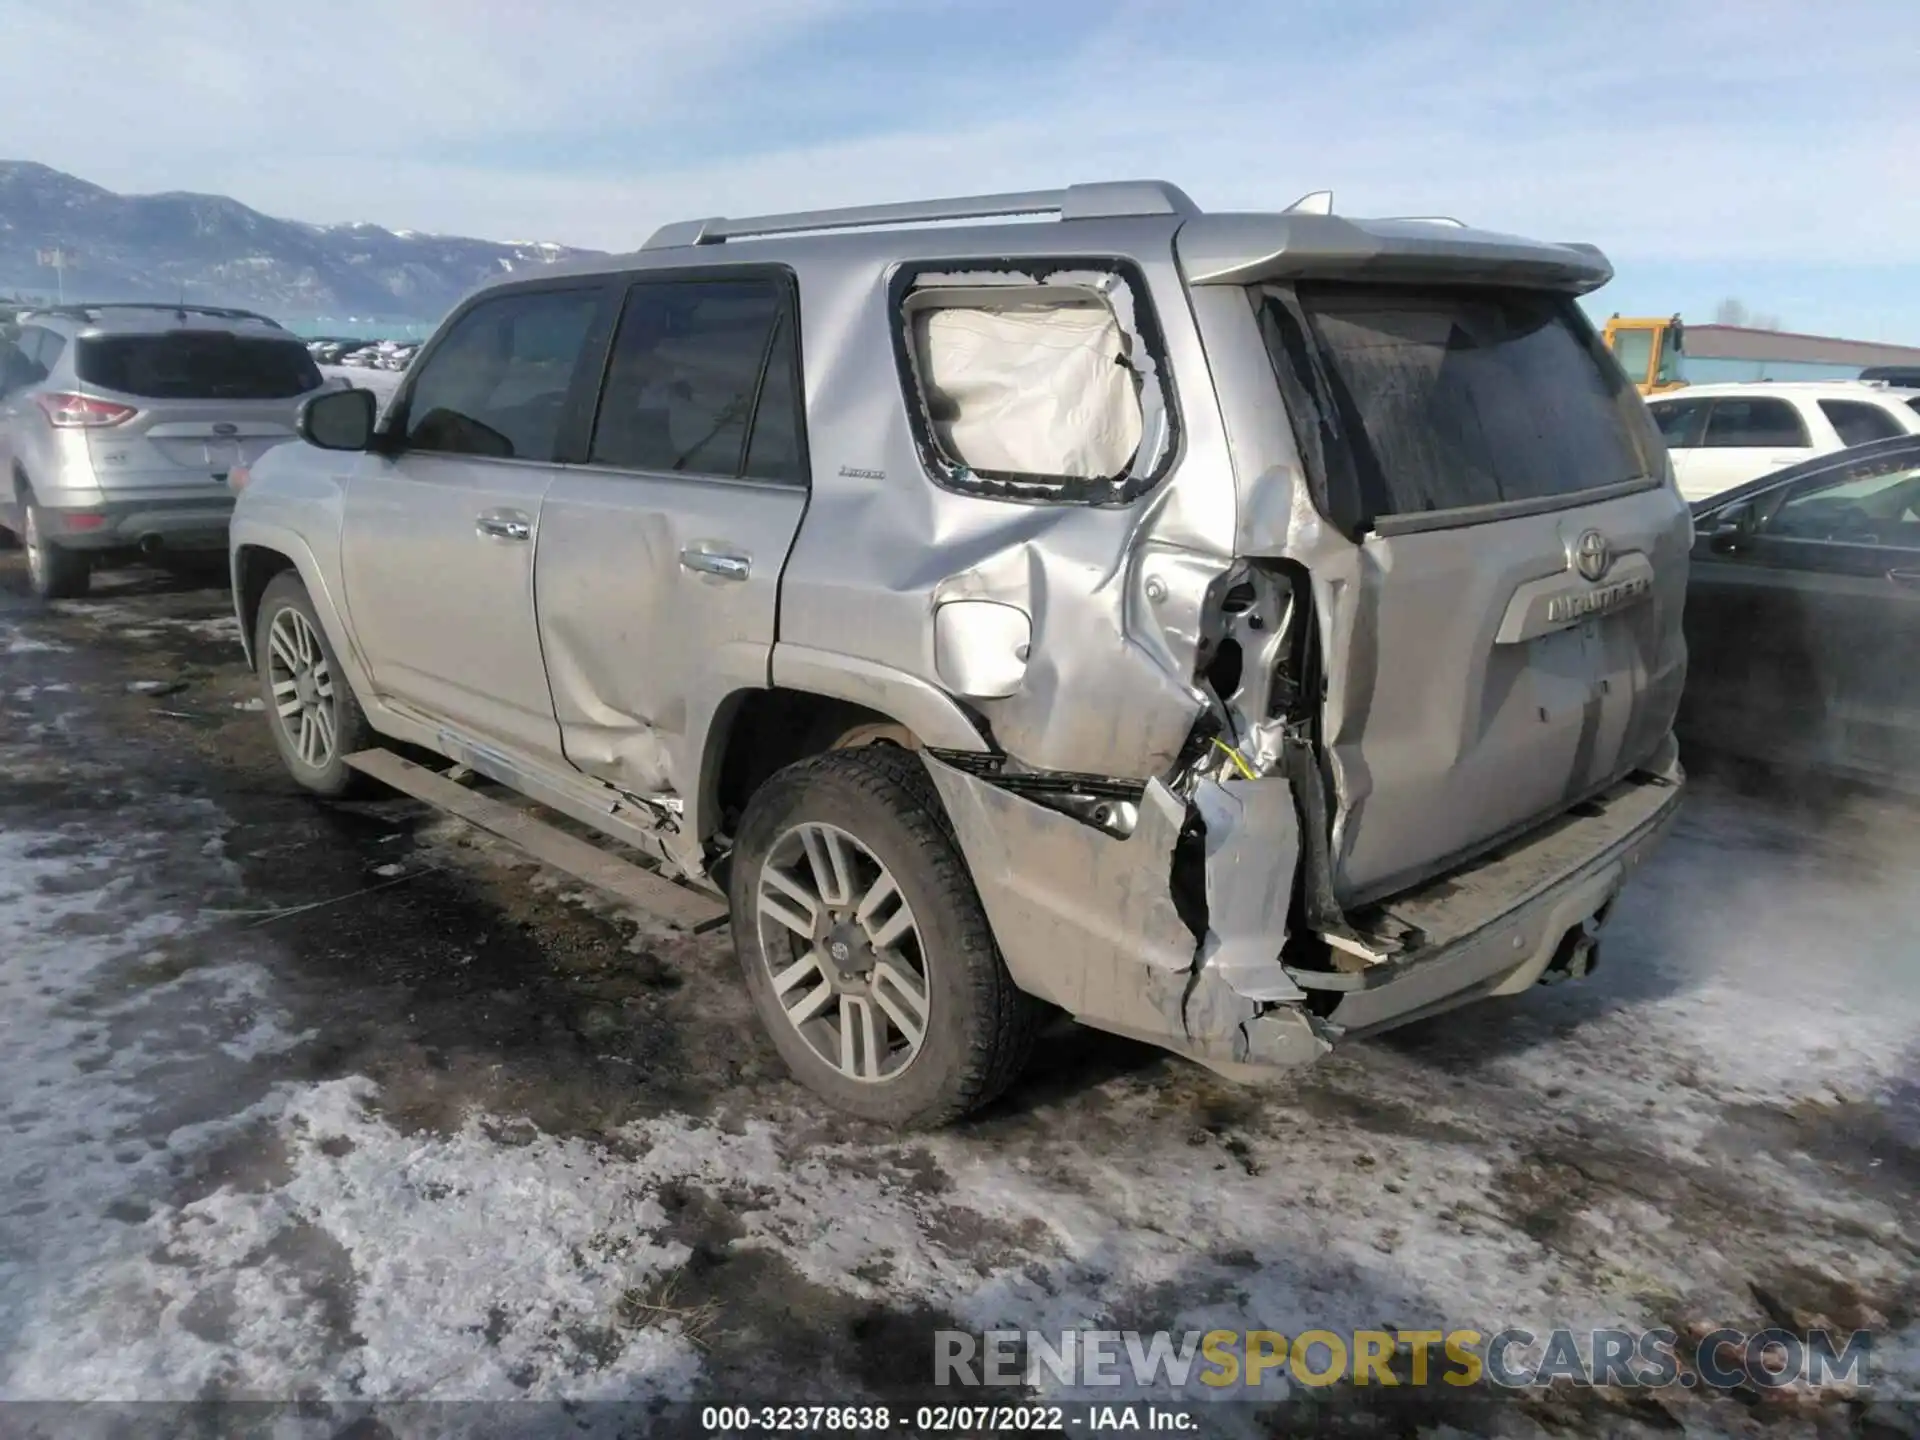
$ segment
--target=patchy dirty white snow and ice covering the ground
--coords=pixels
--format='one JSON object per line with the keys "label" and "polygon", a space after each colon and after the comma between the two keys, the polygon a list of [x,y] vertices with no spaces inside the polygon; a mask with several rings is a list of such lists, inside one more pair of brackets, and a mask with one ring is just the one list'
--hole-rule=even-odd
{"label": "patchy dirty white snow and ice covering the ground", "polygon": [[[219,622],[138,599],[58,618]],[[77,703],[58,732],[10,720],[0,780],[98,735]],[[250,924],[232,818],[127,783],[0,829],[0,1398],[680,1398],[730,1346],[778,1371],[835,1306],[912,1317],[899,1365],[924,1375],[937,1323],[1751,1329],[1789,1271],[1884,1327],[1910,1294],[1920,897],[1885,806],[1814,824],[1707,789],[1594,981],[1269,1089],[1146,1064],[899,1139],[762,1085],[559,1135],[480,1102],[422,1125],[315,1071],[332,1018]],[[457,831],[428,826],[424,854],[509,883]],[[716,1256],[760,1258],[760,1288],[714,1288]],[[1912,1332],[1885,1340],[1885,1392],[1914,1396]],[[847,1394],[793,1354],[789,1382]]]}

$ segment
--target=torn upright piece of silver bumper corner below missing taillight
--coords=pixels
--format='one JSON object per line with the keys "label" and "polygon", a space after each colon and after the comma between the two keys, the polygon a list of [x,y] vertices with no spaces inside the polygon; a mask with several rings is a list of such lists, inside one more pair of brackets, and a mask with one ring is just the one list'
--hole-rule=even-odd
{"label": "torn upright piece of silver bumper corner below missing taillight", "polygon": [[1248,1000],[1304,1000],[1286,977],[1286,912],[1300,864],[1294,789],[1284,780],[1202,780],[1206,916],[1198,960]]}

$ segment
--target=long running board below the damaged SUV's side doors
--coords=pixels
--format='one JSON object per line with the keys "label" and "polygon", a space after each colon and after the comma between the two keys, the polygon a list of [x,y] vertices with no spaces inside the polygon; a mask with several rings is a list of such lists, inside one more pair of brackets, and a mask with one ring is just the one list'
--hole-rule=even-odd
{"label": "long running board below the damaged SUV's side doors", "polygon": [[597,845],[576,839],[564,829],[530,816],[526,810],[467,789],[457,780],[415,764],[394,755],[394,751],[357,751],[348,756],[348,764],[417,801],[426,801],[436,810],[445,810],[468,826],[497,835],[532,858],[555,870],[564,870],[568,876],[584,879],[588,885],[603,889],[664,920],[676,929],[712,929],[728,916],[726,900],[718,895],[680,885],[659,872],[609,854]]}

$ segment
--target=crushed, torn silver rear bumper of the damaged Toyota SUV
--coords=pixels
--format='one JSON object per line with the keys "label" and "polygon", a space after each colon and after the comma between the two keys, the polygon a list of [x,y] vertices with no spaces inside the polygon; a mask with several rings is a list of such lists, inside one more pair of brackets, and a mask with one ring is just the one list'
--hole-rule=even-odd
{"label": "crushed, torn silver rear bumper of the damaged Toyota SUV", "polygon": [[1354,916],[1361,935],[1396,945],[1371,962],[1348,952],[1350,968],[1329,972],[1281,960],[1298,866],[1284,778],[1213,785],[1194,804],[1150,781],[1119,837],[935,755],[925,762],[1014,983],[1223,1073],[1288,1069],[1344,1035],[1578,968],[1684,789],[1668,737],[1647,770]]}

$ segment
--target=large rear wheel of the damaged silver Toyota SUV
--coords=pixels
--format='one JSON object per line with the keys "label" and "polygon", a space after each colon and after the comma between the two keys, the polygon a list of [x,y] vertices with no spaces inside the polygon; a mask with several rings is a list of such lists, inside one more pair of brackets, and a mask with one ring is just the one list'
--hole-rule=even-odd
{"label": "large rear wheel of the damaged silver Toyota SUV", "polygon": [[922,760],[891,745],[768,780],[733,851],[733,947],[793,1077],[900,1127],[1000,1094],[1039,1006],[1014,987]]}

